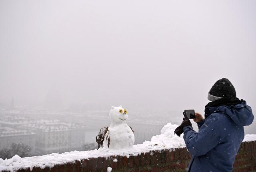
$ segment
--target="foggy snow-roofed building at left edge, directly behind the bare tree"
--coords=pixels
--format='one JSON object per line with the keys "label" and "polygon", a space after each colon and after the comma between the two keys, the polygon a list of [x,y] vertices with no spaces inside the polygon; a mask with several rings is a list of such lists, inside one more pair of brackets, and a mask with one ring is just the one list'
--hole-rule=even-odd
{"label": "foggy snow-roofed building at left edge, directly behind the bare tree", "polygon": [[30,130],[16,130],[10,127],[0,127],[0,149],[8,148],[15,144],[24,144],[30,148],[30,154],[35,153],[35,133]]}

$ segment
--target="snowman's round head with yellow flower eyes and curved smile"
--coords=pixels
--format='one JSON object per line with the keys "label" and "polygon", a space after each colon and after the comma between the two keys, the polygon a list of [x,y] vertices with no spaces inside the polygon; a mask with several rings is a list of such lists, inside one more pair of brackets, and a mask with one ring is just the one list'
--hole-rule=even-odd
{"label": "snowman's round head with yellow flower eyes and curved smile", "polygon": [[126,123],[128,118],[126,109],[122,106],[114,107],[112,106],[109,112],[110,121],[113,124]]}

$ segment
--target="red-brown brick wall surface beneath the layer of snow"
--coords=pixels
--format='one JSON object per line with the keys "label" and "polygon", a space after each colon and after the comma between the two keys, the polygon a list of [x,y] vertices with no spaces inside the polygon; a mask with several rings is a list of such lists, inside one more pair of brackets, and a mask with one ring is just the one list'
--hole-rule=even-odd
{"label": "red-brown brick wall surface beneath the layer of snow", "polygon": [[[113,160],[117,159],[117,162]],[[186,148],[150,151],[138,156],[110,156],[76,160],[73,163],[56,165],[53,168],[34,167],[32,172],[184,172],[190,154]],[[30,172],[20,169],[18,172]],[[256,141],[242,142],[234,163],[234,172],[256,172]]]}

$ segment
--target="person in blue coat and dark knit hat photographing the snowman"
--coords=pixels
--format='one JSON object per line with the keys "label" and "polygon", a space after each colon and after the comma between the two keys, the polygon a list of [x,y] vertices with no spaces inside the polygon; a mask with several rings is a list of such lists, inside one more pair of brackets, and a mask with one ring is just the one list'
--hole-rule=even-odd
{"label": "person in blue coat and dark knit hat photographing the snowman", "polygon": [[232,172],[235,156],[244,139],[244,127],[252,124],[252,109],[236,97],[232,83],[222,78],[208,93],[211,101],[205,106],[204,118],[195,113],[194,131],[189,119],[181,124],[183,138],[192,158],[188,172]]}

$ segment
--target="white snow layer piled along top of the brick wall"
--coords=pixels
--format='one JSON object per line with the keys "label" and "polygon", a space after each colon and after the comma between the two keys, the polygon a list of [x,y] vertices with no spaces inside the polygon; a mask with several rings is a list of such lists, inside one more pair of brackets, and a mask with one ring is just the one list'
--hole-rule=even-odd
{"label": "white snow layer piled along top of the brick wall", "polygon": [[[75,162],[75,160],[98,158],[98,157],[109,157],[112,155],[129,156],[140,155],[141,153],[150,152],[152,150],[160,151],[163,149],[182,148],[185,147],[183,134],[181,137],[174,135],[174,130],[178,125],[172,125],[171,123],[166,124],[160,135],[152,136],[151,141],[145,141],[143,144],[136,144],[132,148],[128,149],[116,149],[110,150],[106,148],[100,148],[99,150],[89,151],[73,151],[65,152],[63,154],[52,153],[43,156],[32,156],[20,158],[18,155],[10,159],[3,160],[0,158],[0,171],[10,170],[11,172],[16,171],[20,168],[32,168],[39,166],[40,168],[53,167],[57,164],[65,164],[67,162]],[[247,134],[244,141],[256,140],[256,134]],[[111,142],[110,142],[111,144]]]}

